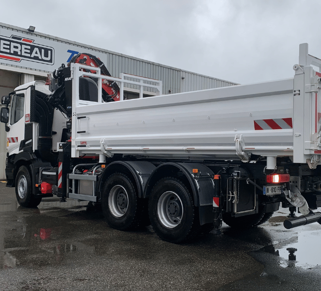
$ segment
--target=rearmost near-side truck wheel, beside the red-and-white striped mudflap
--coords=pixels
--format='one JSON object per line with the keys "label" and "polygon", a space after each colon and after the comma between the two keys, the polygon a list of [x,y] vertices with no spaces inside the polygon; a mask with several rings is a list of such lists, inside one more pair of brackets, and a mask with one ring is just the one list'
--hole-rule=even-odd
{"label": "rearmost near-side truck wheel, beside the red-and-white striped mudflap", "polygon": [[149,215],[156,234],[167,242],[185,242],[200,231],[193,199],[184,183],[176,178],[163,178],[152,189]]}

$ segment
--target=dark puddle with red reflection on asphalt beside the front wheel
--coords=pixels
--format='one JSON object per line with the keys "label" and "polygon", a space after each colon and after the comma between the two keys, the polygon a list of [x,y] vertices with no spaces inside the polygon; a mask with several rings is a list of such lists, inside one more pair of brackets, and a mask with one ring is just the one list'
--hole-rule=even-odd
{"label": "dark puddle with red reflection on asphalt beside the front wheel", "polygon": [[67,217],[70,222],[70,214],[85,212],[87,204],[74,199],[60,203],[59,198],[45,198],[37,208],[27,209],[14,199],[0,202],[0,270],[60,264],[70,255],[94,254],[95,246],[79,242],[82,238],[70,240],[77,227],[61,220]]}

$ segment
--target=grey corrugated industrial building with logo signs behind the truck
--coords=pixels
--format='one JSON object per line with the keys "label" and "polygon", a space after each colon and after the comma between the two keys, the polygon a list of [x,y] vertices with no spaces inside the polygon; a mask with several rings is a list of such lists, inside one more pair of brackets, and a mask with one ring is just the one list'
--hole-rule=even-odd
{"label": "grey corrugated industrial building with logo signs behind the truck", "polygon": [[[236,83],[203,76],[186,70],[160,65],[107,49],[95,48],[56,36],[0,23],[0,97],[8,95],[18,85],[46,81],[47,74],[67,64],[72,56],[86,52],[100,58],[113,77],[126,73],[162,81],[163,94],[237,85]],[[133,77],[134,78],[134,77]],[[157,95],[147,90],[145,96]],[[139,90],[131,85],[125,88],[128,99],[138,97]],[[0,179],[5,179],[6,131],[0,124]]]}

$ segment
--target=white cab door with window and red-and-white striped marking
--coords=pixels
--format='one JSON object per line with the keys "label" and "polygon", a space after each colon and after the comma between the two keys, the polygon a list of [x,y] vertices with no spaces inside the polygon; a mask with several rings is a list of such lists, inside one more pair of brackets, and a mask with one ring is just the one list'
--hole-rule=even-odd
{"label": "white cab door with window and red-and-white striped marking", "polygon": [[19,152],[20,142],[24,139],[26,91],[18,91],[11,101],[9,131],[7,132],[7,150],[9,155]]}

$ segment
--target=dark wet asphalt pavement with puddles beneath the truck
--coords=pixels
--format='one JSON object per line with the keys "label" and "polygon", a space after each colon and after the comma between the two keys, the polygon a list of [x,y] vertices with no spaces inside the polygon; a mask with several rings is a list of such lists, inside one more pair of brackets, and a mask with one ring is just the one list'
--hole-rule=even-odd
{"label": "dark wet asphalt pavement with puddles beneath the truck", "polygon": [[221,235],[177,245],[150,226],[112,229],[86,205],[21,208],[0,183],[0,291],[321,291],[321,225],[286,230],[285,209],[257,228],[223,224]]}

